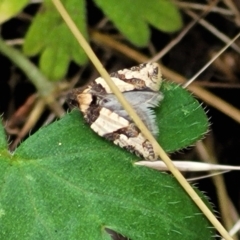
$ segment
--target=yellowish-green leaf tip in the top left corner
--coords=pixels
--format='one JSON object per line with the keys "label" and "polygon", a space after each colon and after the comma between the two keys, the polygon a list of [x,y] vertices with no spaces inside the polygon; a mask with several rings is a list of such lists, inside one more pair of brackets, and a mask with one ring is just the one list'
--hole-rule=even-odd
{"label": "yellowish-green leaf tip in the top left corner", "polygon": [[17,15],[28,3],[29,0],[0,0],[0,23]]}

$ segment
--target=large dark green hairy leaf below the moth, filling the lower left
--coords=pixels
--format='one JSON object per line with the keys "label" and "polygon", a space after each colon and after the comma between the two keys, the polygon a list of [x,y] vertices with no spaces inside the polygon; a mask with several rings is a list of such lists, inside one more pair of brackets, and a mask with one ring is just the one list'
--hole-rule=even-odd
{"label": "large dark green hairy leaf below the moth, filling the lower left", "polygon": [[[164,83],[161,107],[179,93],[173,86]],[[40,129],[14,155],[0,155],[0,239],[111,239],[104,228],[133,240],[211,239],[176,180],[134,159],[79,111]]]}

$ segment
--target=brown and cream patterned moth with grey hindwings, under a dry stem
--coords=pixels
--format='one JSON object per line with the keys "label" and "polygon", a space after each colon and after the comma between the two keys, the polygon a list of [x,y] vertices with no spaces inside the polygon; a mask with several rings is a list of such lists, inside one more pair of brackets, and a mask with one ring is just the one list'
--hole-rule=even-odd
{"label": "brown and cream patterned moth with grey hindwings, under a dry stem", "polygon": [[[110,74],[111,79],[135,109],[148,129],[156,136],[158,127],[152,108],[159,105],[162,78],[157,63],[144,63]],[[127,112],[99,77],[85,88],[73,89],[68,102],[80,108],[91,129],[114,144],[143,157],[156,160],[151,143],[143,136]]]}

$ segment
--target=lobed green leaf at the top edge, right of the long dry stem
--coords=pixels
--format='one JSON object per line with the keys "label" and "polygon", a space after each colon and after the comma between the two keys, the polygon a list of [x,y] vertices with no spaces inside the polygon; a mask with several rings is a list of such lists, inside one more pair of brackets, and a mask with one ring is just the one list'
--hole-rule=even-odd
{"label": "lobed green leaf at the top edge, right of the long dry stem", "polygon": [[180,13],[169,0],[94,0],[119,31],[133,44],[148,44],[148,24],[165,32],[174,32],[182,26]]}

